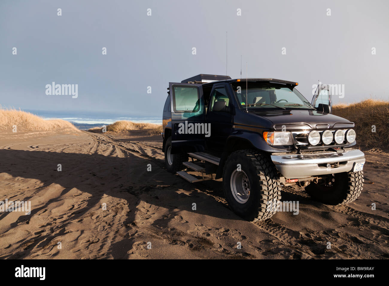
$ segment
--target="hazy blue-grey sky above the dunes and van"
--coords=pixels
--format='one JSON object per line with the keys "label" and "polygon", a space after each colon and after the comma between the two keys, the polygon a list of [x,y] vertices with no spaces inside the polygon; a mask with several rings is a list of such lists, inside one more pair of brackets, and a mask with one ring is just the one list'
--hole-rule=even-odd
{"label": "hazy blue-grey sky above the dunes and van", "polygon": [[[247,62],[248,77],[298,82],[308,100],[319,81],[344,87],[334,103],[388,100],[388,11],[375,0],[1,0],[0,105],[159,117],[168,82],[226,74],[226,32],[231,78],[242,56],[243,77]],[[47,95],[52,82],[77,84],[77,98]]]}

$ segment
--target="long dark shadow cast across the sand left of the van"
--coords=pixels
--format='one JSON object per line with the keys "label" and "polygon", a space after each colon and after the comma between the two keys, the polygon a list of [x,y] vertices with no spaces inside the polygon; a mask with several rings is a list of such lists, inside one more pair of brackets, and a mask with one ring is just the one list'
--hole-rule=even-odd
{"label": "long dark shadow cast across the sand left of the van", "polygon": [[[173,213],[187,211],[196,213],[196,215],[201,214],[220,219],[243,220],[226,209],[225,203],[215,199],[223,197],[221,182],[200,182],[194,186],[183,181],[177,175],[168,173],[164,168],[161,168],[161,164],[158,166],[147,158],[131,153],[128,153],[125,158],[119,158],[96,153],[2,149],[0,150],[0,158],[2,158],[0,173],[12,176],[12,178],[7,179],[7,182],[11,184],[16,182],[16,177],[18,177],[17,181],[20,184],[18,193],[3,193],[1,200],[5,200],[5,198],[8,200],[30,200],[32,204],[30,215],[21,213],[23,215],[11,222],[9,228],[0,235],[4,235],[18,225],[28,224],[33,216],[43,214],[50,208],[50,205],[63,204],[65,198],[72,196],[76,200],[79,194],[74,195],[75,188],[82,193],[88,193],[87,198],[82,204],[80,203],[79,208],[70,209],[60,214],[58,221],[57,219],[48,220],[46,225],[37,226],[33,237],[29,236],[27,239],[17,241],[18,247],[16,249],[18,250],[12,255],[2,256],[2,258],[25,258],[32,254],[30,252],[32,249],[35,249],[36,252],[36,249],[40,247],[56,247],[55,244],[52,245],[51,241],[67,232],[67,227],[71,223],[84,218],[91,208],[101,205],[102,200],[107,195],[126,200],[130,209],[124,214],[126,218],[123,222],[123,228],[126,228],[126,234],[122,240],[112,243],[110,246],[108,254],[111,254],[113,258],[126,258],[127,251],[132,248],[136,241],[135,237],[131,237],[129,233],[136,221],[139,220],[137,207],[142,201],[172,210]],[[160,161],[163,163],[162,160]],[[61,172],[57,170],[58,164],[61,164]],[[147,171],[147,164],[151,164],[151,172]],[[23,188],[25,179],[37,180],[40,185]],[[34,205],[35,196],[41,197],[44,195],[42,192],[50,192],[54,186],[57,190],[61,189],[59,195],[49,198],[46,202],[40,202],[39,206]],[[207,193],[207,189],[212,189],[212,191]],[[192,210],[193,203],[198,206],[196,210]],[[107,208],[110,207],[113,206],[107,204]],[[101,208],[99,208],[100,210]],[[49,209],[49,211],[51,210]],[[119,214],[120,210],[116,212]],[[0,219],[5,219],[9,214],[10,212],[0,213]],[[174,219],[174,215],[159,219],[156,223],[159,227],[168,228],[171,219]],[[44,234],[43,230],[46,228],[51,228],[51,232]]]}

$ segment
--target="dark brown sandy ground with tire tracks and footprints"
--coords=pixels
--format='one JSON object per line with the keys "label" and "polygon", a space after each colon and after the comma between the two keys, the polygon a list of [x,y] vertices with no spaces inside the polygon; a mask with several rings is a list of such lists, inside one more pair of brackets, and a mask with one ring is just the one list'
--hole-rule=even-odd
{"label": "dark brown sandy ground with tire tracks and footprints", "polygon": [[161,147],[142,132],[0,137],[0,200],[32,204],[30,215],[0,213],[0,258],[389,257],[387,155],[367,154],[356,202],[329,207],[284,188],[299,214],[254,224],[228,209],[220,180],[168,173]]}

